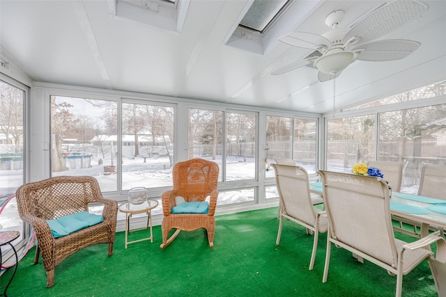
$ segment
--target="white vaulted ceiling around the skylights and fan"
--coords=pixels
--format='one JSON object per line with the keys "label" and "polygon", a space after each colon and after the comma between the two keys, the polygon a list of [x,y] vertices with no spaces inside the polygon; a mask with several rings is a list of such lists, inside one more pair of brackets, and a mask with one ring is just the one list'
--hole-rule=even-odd
{"label": "white vaulted ceiling around the skylights and fan", "polygon": [[[252,1],[179,1],[183,16],[171,25],[162,16],[148,24],[125,21],[111,14],[111,7],[120,13],[113,0],[1,0],[0,54],[36,82],[325,113],[332,109],[333,81],[319,82],[311,67],[270,74],[311,52],[277,38],[291,31],[322,34],[333,10],[344,10],[343,22],[352,24],[385,3],[298,0],[255,45],[249,43],[255,35],[233,37]],[[421,17],[380,38],[421,46],[403,60],[350,65],[336,79],[338,107],[445,79],[446,1],[422,2],[429,9]],[[157,26],[163,22],[173,29]]]}

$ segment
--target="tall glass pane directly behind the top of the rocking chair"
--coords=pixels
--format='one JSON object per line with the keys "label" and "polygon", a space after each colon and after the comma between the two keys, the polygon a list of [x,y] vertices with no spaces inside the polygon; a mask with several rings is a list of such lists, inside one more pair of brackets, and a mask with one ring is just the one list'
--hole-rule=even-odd
{"label": "tall glass pane directly behind the top of the rocking chair", "polygon": [[223,112],[206,109],[189,109],[189,159],[203,158],[220,166],[222,180]]}

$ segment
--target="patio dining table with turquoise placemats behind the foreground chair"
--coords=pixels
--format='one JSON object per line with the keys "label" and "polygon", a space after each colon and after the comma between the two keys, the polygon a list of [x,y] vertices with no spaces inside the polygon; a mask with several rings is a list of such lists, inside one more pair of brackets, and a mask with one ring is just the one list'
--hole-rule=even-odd
{"label": "patio dining table with turquoise placemats behind the foreground chair", "polygon": [[[312,193],[323,195],[321,182],[310,182]],[[390,193],[390,213],[420,224],[420,236],[429,234],[430,229],[446,230],[445,200],[410,193]]]}

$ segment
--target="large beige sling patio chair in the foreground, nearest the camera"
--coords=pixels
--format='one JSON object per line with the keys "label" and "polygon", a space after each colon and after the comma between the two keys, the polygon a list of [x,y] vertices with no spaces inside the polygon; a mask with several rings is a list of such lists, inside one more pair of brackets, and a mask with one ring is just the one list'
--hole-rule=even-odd
{"label": "large beige sling patio chair in the foreground, nearest the camera", "polygon": [[[380,178],[319,170],[323,181],[328,239],[323,282],[328,279],[331,244],[345,248],[397,275],[396,296],[401,296],[403,275],[424,259],[431,260],[434,282],[445,296],[445,238],[430,234],[413,243],[395,239],[390,216],[389,188]],[[425,248],[437,243],[436,257]],[[442,280],[443,277],[443,280]],[[443,287],[440,287],[443,286]],[[443,291],[440,291],[443,290]],[[443,294],[443,295],[442,295]]]}

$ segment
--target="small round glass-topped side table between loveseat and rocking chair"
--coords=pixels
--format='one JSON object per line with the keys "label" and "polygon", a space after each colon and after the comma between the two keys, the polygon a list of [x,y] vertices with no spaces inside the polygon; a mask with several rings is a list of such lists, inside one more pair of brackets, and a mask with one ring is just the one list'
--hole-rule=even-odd
{"label": "small round glass-topped side table between loveseat and rocking chair", "polygon": [[[119,206],[119,211],[125,213],[125,248],[130,243],[135,243],[139,241],[145,241],[150,239],[151,243],[153,243],[153,232],[152,232],[152,214],[151,210],[158,206],[158,201],[154,199],[148,199],[141,204],[132,204],[130,202],[125,202]],[[139,228],[130,230],[130,218],[134,214],[147,214],[147,226],[145,228]],[[139,230],[148,230],[148,227],[151,228],[151,236],[146,237],[144,239],[138,239],[134,241],[128,241],[129,232],[139,231]]]}

